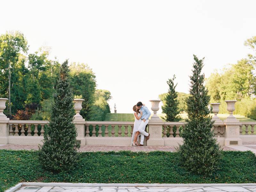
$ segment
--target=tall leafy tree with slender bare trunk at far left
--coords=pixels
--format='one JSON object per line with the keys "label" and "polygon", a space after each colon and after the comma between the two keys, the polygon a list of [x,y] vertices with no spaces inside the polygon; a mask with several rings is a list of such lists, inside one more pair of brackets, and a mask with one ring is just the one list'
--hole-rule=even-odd
{"label": "tall leafy tree with slender bare trunk at far left", "polygon": [[[19,54],[22,51],[27,52],[27,50],[27,40],[19,31],[5,33],[0,36],[0,70],[2,72],[0,79],[4,83],[1,86],[8,87],[8,109],[10,114],[12,114],[11,84],[16,83],[12,80],[13,69],[17,64]],[[6,82],[8,83],[6,84]]]}

